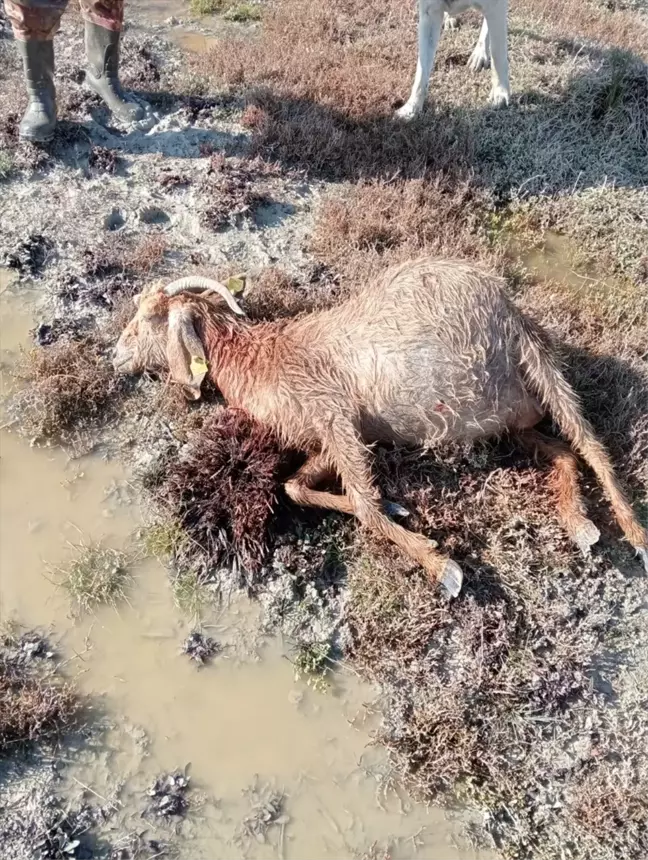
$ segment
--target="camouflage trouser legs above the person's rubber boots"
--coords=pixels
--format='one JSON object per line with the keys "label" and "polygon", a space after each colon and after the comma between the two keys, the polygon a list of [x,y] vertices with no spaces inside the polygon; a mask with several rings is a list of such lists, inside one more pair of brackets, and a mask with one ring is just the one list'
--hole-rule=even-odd
{"label": "camouflage trouser legs above the person's rubber boots", "polygon": [[[14,36],[21,42],[49,41],[61,23],[68,0],[5,0]],[[107,30],[119,31],[124,18],[124,0],[80,0],[84,20]]]}

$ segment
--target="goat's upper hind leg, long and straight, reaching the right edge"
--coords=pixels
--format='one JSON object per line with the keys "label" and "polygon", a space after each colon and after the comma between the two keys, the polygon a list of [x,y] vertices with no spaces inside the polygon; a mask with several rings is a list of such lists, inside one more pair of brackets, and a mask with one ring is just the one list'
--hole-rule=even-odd
{"label": "goat's upper hind leg, long and straight, reaching the right edge", "polygon": [[526,385],[598,478],[619,525],[648,570],[648,533],[621,489],[608,452],[583,415],[579,397],[563,375],[549,339],[531,320],[520,317],[519,344]]}

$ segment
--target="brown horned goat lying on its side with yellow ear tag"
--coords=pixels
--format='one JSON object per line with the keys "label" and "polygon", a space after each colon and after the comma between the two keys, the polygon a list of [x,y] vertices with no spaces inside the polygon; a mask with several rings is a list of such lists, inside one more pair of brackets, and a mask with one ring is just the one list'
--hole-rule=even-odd
{"label": "brown horned goat lying on its side with yellow ear tag", "polygon": [[[545,409],[596,473],[648,570],[648,535],[605,449],[545,335],[499,279],[423,258],[389,269],[330,310],[258,324],[242,320],[227,288],[205,278],[183,278],[136,303],[115,351],[118,372],[168,370],[193,399],[209,374],[230,405],[309,454],[285,487],[294,502],[355,514],[451,594],[459,593],[461,569],[390,519],[407,512],[381,502],[367,444],[434,446],[515,433],[552,461],[559,515],[587,552],[599,532],[585,516],[574,454],[533,429]],[[317,489],[336,475],[343,494]]]}

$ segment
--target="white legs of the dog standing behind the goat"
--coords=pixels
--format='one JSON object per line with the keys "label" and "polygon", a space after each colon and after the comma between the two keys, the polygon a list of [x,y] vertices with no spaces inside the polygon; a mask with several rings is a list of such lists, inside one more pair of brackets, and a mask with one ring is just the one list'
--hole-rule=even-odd
{"label": "white legs of the dog standing behind the goat", "polygon": [[454,29],[457,24],[454,16],[473,6],[483,13],[484,23],[475,50],[468,61],[468,67],[476,72],[492,66],[493,86],[490,101],[498,107],[507,105],[510,94],[507,49],[508,0],[418,0],[418,4],[419,56],[416,77],[412,94],[406,104],[396,112],[396,116],[399,119],[412,119],[423,109],[444,15],[446,29]]}

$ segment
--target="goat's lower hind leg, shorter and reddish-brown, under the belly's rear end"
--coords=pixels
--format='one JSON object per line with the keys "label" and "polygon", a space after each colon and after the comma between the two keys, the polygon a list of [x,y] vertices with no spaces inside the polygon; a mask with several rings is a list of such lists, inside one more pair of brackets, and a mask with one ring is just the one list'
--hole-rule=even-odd
{"label": "goat's lower hind leg, shorter and reddish-brown, under the belly's rear end", "polygon": [[558,503],[558,515],[567,534],[587,556],[601,536],[594,523],[586,516],[585,503],[578,486],[578,461],[569,448],[558,439],[550,439],[537,430],[518,434],[523,445],[534,457],[541,455],[552,465],[550,483]]}

